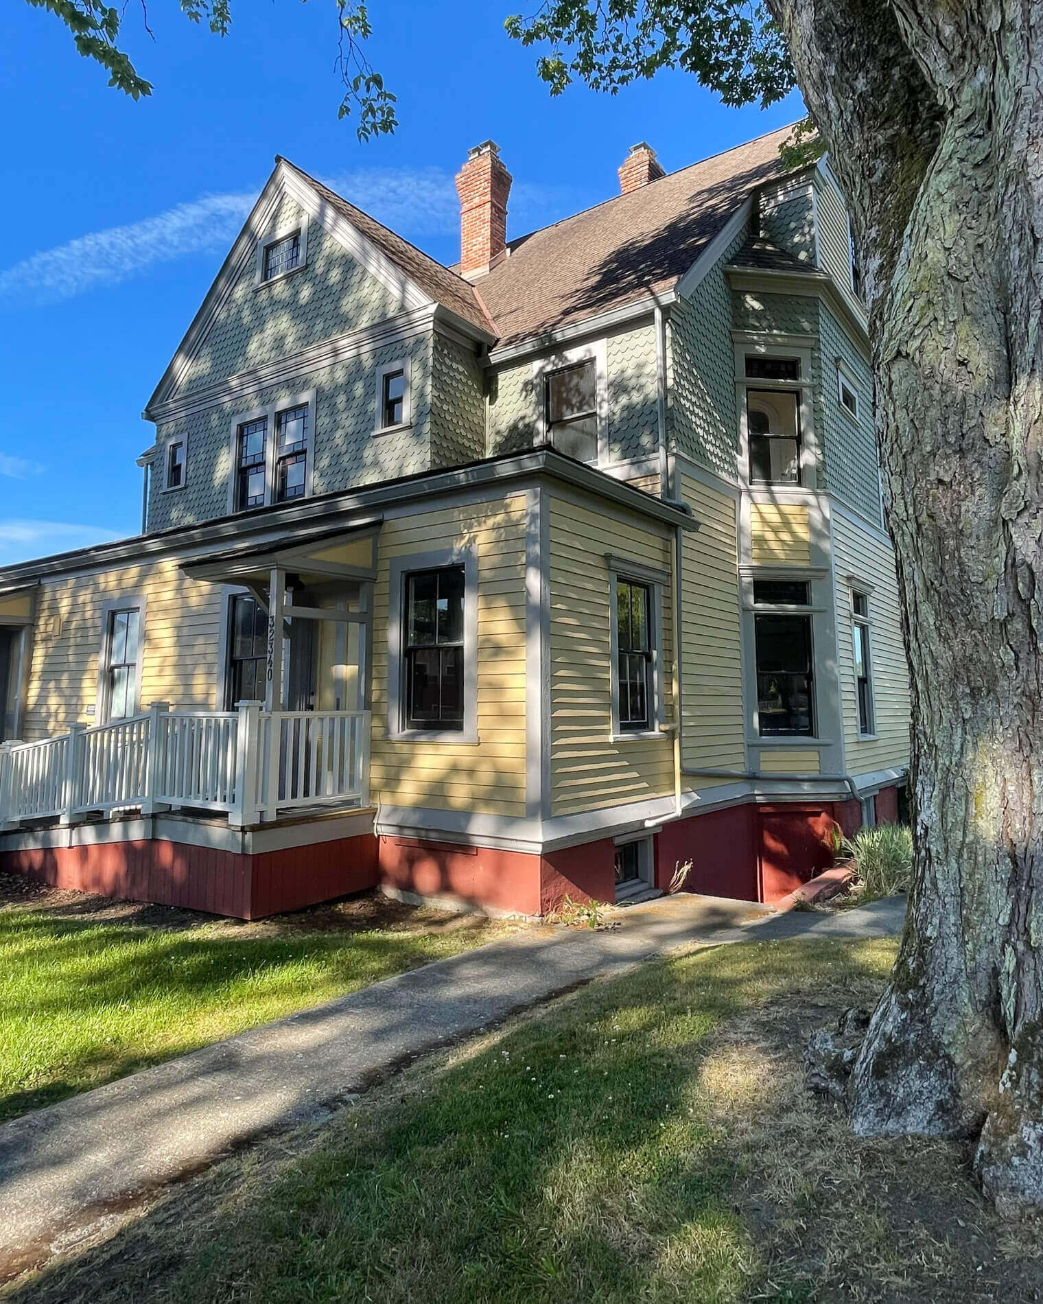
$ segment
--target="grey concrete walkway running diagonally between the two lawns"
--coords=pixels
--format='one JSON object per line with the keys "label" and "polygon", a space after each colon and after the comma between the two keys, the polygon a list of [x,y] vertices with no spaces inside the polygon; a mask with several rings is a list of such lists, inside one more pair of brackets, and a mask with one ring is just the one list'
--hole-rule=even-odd
{"label": "grey concrete walkway running diagonally between the two lawns", "polygon": [[903,915],[905,898],[840,914],[661,898],[618,928],[519,932],[37,1110],[0,1127],[0,1282],[252,1138],[592,978],[695,943],[889,936]]}

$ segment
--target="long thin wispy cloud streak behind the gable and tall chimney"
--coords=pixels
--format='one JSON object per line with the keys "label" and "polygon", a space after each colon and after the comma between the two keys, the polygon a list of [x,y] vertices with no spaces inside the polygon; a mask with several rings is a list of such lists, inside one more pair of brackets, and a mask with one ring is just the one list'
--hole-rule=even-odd
{"label": "long thin wispy cloud streak behind the gable and tall chimney", "polygon": [[[459,230],[452,175],[441,168],[368,168],[327,180],[331,189],[385,226],[417,243]],[[0,270],[0,309],[60,303],[117,286],[159,263],[231,245],[257,200],[257,190],[207,194],[166,213],[77,236]],[[511,227],[528,231],[576,206],[567,186],[515,184]],[[10,472],[0,472],[9,475]]]}

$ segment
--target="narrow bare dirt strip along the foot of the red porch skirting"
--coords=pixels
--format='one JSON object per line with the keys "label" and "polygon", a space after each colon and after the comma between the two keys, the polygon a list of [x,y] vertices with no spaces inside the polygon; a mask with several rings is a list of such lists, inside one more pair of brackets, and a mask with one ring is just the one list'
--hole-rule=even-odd
{"label": "narrow bare dirt strip along the foot of the red porch skirting", "polygon": [[113,901],[86,892],[68,892],[35,883],[21,874],[0,874],[0,910],[29,909],[56,918],[90,923],[126,923],[136,928],[184,930],[206,927],[211,932],[236,938],[296,936],[306,932],[426,932],[468,931],[488,927],[480,914],[452,913],[433,906],[394,901],[382,892],[369,891],[339,901],[325,901],[305,910],[274,914],[267,919],[227,919],[202,910],[150,905],[142,901]]}

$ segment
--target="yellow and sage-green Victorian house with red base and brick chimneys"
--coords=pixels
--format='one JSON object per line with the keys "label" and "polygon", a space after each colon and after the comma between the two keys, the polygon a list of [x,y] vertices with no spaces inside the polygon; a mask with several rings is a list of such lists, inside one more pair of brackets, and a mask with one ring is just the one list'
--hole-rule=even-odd
{"label": "yellow and sage-green Victorian house with red base and brick chimneys", "polygon": [[[256,917],[382,884],[773,901],[894,819],[866,314],[776,132],[445,267],[286,159],[145,409],[142,535],[0,571],[0,866]],[[14,741],[18,739],[18,741]]]}

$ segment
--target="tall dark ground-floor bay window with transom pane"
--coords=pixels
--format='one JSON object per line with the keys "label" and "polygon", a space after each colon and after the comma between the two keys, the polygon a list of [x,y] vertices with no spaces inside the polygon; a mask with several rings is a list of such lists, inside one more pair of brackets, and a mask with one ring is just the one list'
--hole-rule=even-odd
{"label": "tall dark ground-floor bay window with transom pane", "polygon": [[812,615],[804,580],[754,580],[757,721],[764,737],[815,735]]}

